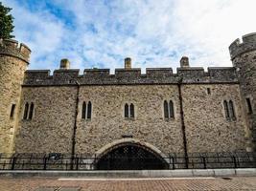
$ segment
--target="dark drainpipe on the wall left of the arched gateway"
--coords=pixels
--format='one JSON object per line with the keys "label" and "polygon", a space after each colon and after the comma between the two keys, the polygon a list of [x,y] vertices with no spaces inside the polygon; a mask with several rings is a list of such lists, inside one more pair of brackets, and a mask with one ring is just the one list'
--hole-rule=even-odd
{"label": "dark drainpipe on the wall left of the arched gateway", "polygon": [[[72,80],[70,80],[71,82]],[[77,86],[77,94],[76,94],[76,112],[75,112],[75,121],[74,121],[74,128],[73,128],[73,136],[72,136],[72,151],[71,151],[71,166],[70,169],[74,169],[74,159],[75,159],[75,148],[76,148],[76,135],[77,135],[77,118],[79,114],[79,93],[80,93],[80,83],[75,80]]]}

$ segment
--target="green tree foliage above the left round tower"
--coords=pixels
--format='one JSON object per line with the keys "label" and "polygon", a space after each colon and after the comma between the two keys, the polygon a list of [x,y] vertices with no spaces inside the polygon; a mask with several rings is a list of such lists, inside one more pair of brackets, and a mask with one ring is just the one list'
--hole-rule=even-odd
{"label": "green tree foliage above the left round tower", "polygon": [[5,7],[0,2],[0,38],[8,39],[15,37],[12,35],[14,26],[12,25],[12,14],[9,13],[11,10],[12,8]]}

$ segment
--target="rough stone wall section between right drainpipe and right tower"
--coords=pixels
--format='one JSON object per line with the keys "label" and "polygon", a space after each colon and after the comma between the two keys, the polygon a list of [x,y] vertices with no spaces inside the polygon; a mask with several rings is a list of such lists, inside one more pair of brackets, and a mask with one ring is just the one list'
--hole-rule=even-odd
{"label": "rough stone wall section between right drainpipe and right tower", "polygon": [[[245,149],[246,123],[239,85],[184,85],[181,90],[189,153]],[[235,121],[225,118],[223,100],[233,100]]]}

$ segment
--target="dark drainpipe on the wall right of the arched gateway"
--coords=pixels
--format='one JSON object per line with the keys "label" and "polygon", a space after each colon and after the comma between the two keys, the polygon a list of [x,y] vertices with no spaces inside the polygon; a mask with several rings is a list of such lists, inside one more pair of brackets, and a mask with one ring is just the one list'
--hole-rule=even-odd
{"label": "dark drainpipe on the wall right of the arched gateway", "polygon": [[180,78],[178,80],[177,87],[178,87],[178,97],[179,97],[179,107],[180,107],[181,129],[182,129],[182,136],[183,136],[183,146],[184,146],[184,154],[185,154],[185,162],[186,162],[185,165],[186,165],[186,168],[188,168],[189,167],[189,160],[188,160],[186,127],[185,127],[185,122],[184,122],[184,112],[183,112],[181,85],[182,85],[182,78]]}

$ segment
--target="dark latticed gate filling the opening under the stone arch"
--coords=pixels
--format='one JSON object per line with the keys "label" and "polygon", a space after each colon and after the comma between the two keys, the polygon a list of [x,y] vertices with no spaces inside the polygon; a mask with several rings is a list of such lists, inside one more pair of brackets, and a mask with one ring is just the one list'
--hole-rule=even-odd
{"label": "dark latticed gate filling the opening under the stone arch", "polygon": [[136,144],[112,148],[96,163],[98,170],[167,169],[167,162],[148,148]]}

